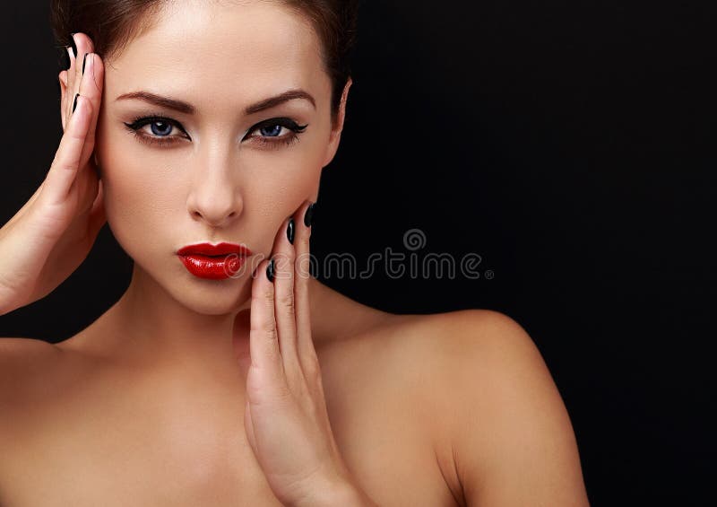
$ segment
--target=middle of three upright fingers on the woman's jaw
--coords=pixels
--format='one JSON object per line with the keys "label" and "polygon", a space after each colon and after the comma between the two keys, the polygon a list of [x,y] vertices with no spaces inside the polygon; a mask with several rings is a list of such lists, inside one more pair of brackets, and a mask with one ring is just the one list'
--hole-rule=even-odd
{"label": "middle of three upright fingers on the woman's jaw", "polygon": [[[279,331],[279,347],[281,360],[284,365],[284,372],[289,381],[289,389],[295,394],[305,385],[304,373],[301,370],[301,363],[298,361],[297,349],[297,321],[294,305],[294,230],[296,225],[294,217],[291,216],[281,225],[277,234],[276,243],[273,249],[273,258],[276,263],[276,274],[274,276],[274,292],[276,304],[276,326]],[[290,240],[289,240],[290,233]]]}

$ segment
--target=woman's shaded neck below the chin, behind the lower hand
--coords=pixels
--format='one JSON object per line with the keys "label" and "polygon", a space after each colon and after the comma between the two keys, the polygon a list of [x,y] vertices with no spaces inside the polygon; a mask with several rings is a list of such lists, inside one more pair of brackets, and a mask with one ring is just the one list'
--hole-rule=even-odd
{"label": "woman's shaded neck below the chin, behind the lower hand", "polygon": [[[135,265],[122,297],[91,326],[57,345],[136,368],[176,368],[181,363],[232,370],[238,367],[232,343],[234,319],[238,311],[250,309],[251,280],[245,292],[246,297],[240,298],[245,302],[237,310],[218,315],[201,313],[178,302]],[[319,347],[340,331],[331,316],[343,319],[344,328],[354,313],[350,310],[355,310],[355,302],[313,277],[309,279],[309,293],[312,337]],[[248,341],[248,333],[238,339]]]}

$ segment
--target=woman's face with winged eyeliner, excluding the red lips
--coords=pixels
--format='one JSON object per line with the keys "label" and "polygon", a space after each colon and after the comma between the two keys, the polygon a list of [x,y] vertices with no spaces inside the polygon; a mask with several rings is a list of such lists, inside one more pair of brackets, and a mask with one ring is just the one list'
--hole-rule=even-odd
{"label": "woman's face with winged eyeliner, excluding the red lips", "polygon": [[[225,4],[168,3],[105,62],[95,149],[108,224],[135,269],[207,314],[250,297],[252,269],[283,222],[316,200],[342,124],[341,114],[332,128],[331,81],[307,20],[281,2]],[[237,277],[199,278],[177,257],[220,241],[254,254]]]}

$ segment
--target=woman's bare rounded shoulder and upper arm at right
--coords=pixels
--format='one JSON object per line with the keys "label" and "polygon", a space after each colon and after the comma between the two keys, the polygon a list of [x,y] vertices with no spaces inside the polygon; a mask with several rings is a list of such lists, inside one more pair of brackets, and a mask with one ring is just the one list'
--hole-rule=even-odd
{"label": "woman's bare rounded shoulder and upper arm at right", "polygon": [[456,503],[589,504],[566,406],[514,319],[495,310],[389,314],[337,350],[331,368],[345,383],[393,393],[392,404],[425,425]]}

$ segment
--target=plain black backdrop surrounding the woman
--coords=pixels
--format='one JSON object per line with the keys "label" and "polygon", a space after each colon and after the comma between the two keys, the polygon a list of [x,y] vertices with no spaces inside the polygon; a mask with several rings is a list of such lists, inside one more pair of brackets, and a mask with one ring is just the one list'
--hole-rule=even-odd
{"label": "plain black backdrop surrounding the woman", "polygon": [[[364,2],[341,148],[312,253],[482,258],[477,280],[317,273],[402,313],[502,311],[531,335],[599,505],[712,504],[716,179],[709,3]],[[62,128],[46,2],[4,30],[0,223]],[[492,272],[493,277],[489,278]],[[0,336],[57,342],[124,292],[106,226],[90,257]]]}

